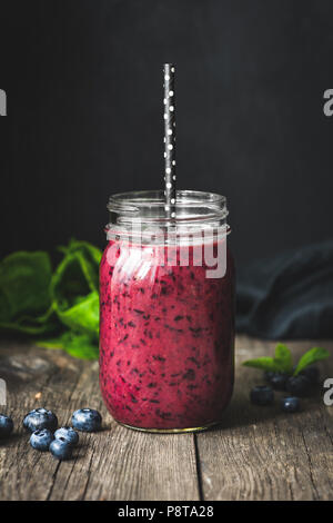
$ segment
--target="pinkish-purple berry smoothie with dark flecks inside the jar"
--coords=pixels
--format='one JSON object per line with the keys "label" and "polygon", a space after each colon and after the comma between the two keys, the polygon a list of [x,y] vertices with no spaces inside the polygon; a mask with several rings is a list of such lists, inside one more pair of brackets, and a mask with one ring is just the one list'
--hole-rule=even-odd
{"label": "pinkish-purple berry smoothie with dark flecks inside the jar", "polygon": [[[140,247],[111,240],[100,267],[100,385],[120,423],[183,430],[216,423],[233,388],[234,266],[160,266],[163,246],[140,260]],[[159,251],[160,249],[160,251]],[[193,247],[190,247],[193,249]],[[191,251],[190,251],[190,259]]]}

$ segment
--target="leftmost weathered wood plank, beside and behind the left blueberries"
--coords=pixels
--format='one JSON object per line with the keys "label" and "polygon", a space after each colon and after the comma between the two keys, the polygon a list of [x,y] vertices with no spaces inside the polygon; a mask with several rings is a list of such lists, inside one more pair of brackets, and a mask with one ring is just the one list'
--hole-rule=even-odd
{"label": "leftmost weathered wood plank, beside and behind the left blueberries", "polygon": [[[0,407],[14,421],[14,435],[0,446],[0,500],[46,500],[52,490],[59,463],[50,454],[33,452],[29,435],[22,428],[27,412],[41,405],[59,413],[71,394],[75,376],[82,366],[67,356],[28,346],[6,344],[0,351],[0,374],[8,384],[8,405]],[[53,383],[65,384],[61,402]],[[42,397],[36,399],[36,394]],[[61,416],[60,416],[61,417]]]}

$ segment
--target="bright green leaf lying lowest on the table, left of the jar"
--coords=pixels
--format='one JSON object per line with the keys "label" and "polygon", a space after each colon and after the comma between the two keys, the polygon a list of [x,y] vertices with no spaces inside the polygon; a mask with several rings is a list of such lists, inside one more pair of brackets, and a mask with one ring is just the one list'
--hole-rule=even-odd
{"label": "bright green leaf lying lowest on the table, left of the jar", "polygon": [[61,348],[73,357],[81,359],[97,359],[99,357],[98,344],[87,334],[67,332],[58,338],[37,342],[39,347]]}

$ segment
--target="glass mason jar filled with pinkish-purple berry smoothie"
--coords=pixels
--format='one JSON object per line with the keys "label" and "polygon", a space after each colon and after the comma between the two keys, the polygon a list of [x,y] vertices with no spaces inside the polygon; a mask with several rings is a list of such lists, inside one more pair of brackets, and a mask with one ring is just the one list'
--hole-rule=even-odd
{"label": "glass mason jar filled with pinkish-purple berry smoothie", "polygon": [[150,432],[221,421],[233,388],[234,265],[226,201],[179,190],[109,200],[100,267],[100,386],[112,416]]}

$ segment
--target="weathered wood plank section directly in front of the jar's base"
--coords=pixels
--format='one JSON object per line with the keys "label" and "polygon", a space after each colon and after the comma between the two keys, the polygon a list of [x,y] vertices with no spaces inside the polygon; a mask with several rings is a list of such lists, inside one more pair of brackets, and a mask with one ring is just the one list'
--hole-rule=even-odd
{"label": "weathered wood plank section directly in front of the jar's base", "polygon": [[107,441],[100,437],[90,437],[80,463],[61,465],[51,500],[199,499],[191,435],[142,434],[114,424]]}

